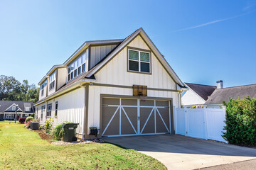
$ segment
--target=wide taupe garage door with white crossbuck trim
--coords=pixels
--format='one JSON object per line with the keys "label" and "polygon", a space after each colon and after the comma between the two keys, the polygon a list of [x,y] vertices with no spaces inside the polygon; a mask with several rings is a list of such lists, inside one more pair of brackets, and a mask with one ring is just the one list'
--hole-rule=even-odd
{"label": "wide taupe garage door with white crossbuck trim", "polygon": [[102,136],[170,132],[170,101],[102,98]]}

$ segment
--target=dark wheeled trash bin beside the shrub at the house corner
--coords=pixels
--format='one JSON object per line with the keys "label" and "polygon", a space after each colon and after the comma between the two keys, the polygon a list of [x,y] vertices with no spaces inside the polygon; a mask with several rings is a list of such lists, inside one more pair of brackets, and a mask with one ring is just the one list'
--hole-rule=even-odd
{"label": "dark wheeled trash bin beside the shrub at the house corner", "polygon": [[73,142],[77,141],[78,137],[75,137],[75,130],[78,128],[79,123],[63,123],[63,141]]}

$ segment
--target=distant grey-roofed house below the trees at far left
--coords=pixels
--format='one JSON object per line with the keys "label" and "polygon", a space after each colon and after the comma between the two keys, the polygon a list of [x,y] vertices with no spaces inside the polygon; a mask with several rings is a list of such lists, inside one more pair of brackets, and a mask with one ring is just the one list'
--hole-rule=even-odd
{"label": "distant grey-roofed house below the trees at far left", "polygon": [[0,101],[0,120],[14,120],[16,111],[16,120],[35,113],[31,101]]}

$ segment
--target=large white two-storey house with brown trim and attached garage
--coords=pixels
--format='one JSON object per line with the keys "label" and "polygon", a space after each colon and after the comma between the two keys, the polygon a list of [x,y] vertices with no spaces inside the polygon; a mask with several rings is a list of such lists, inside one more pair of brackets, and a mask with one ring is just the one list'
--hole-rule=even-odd
{"label": "large white two-storey house with brown trim and attached garage", "polygon": [[124,39],[84,42],[38,85],[40,123],[79,123],[84,138],[90,128],[100,137],[174,133],[185,88],[142,28]]}

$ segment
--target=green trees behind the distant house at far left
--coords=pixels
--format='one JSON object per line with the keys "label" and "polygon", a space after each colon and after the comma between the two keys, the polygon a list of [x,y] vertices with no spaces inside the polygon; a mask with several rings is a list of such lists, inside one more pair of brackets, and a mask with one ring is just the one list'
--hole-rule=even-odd
{"label": "green trees behind the distant house at far left", "polygon": [[22,83],[14,77],[0,76],[0,101],[32,101],[39,98],[39,88],[35,84]]}

